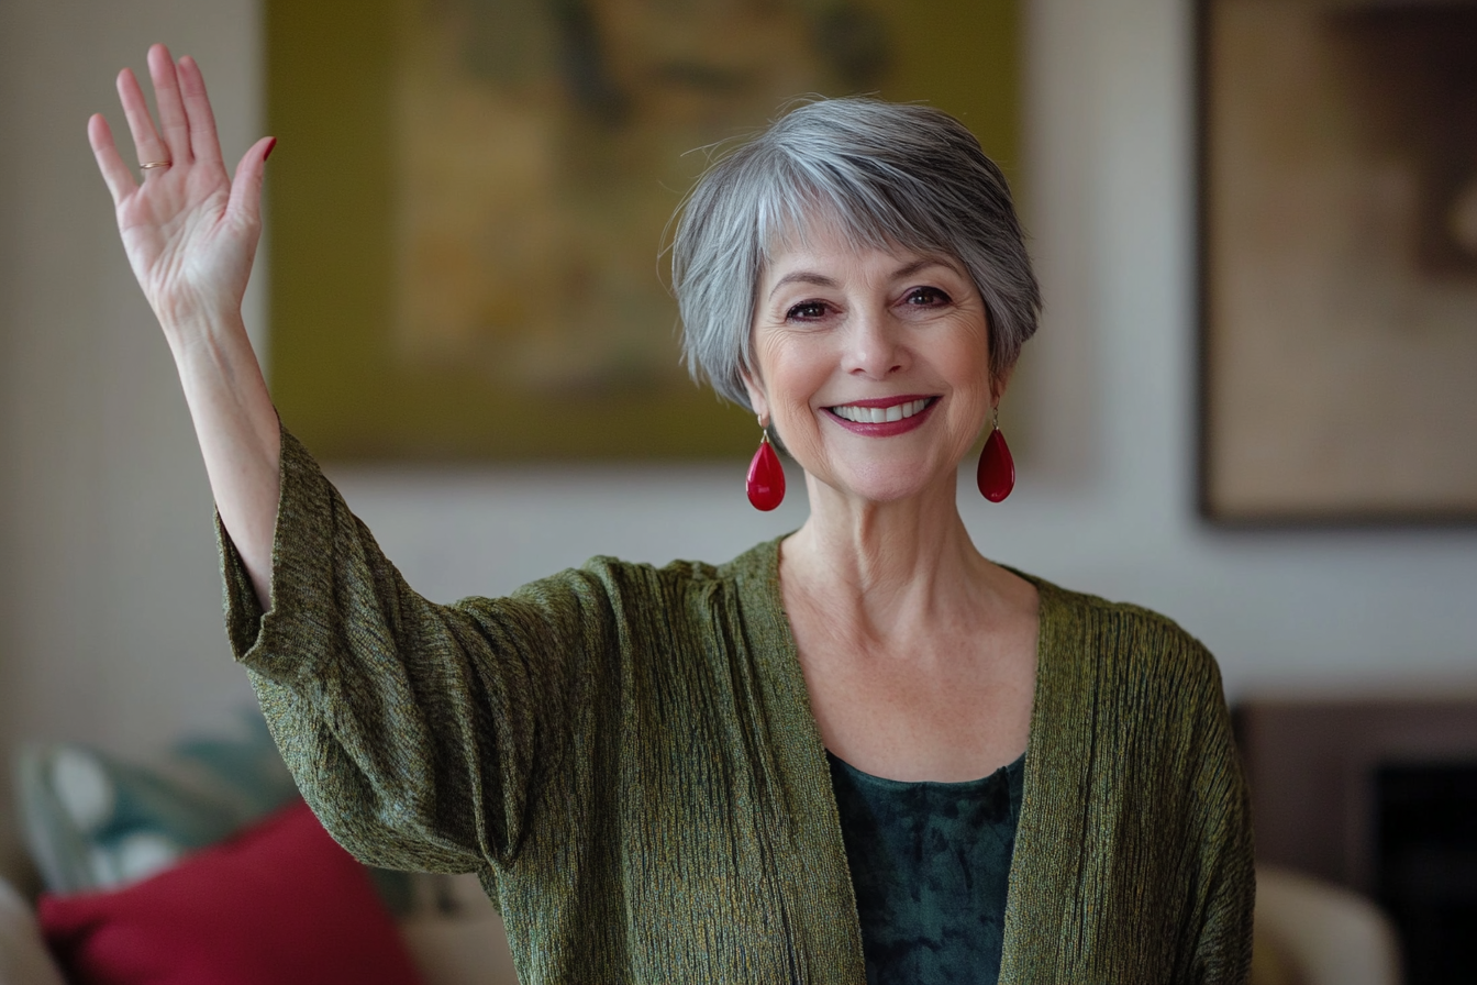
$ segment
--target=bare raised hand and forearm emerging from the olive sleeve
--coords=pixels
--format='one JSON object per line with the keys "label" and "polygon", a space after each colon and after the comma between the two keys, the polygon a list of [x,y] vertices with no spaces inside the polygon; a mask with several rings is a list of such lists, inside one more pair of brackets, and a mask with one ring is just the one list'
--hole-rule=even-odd
{"label": "bare raised hand and forearm emerging from the olive sleeve", "polygon": [[222,523],[266,605],[281,452],[241,300],[261,233],[261,176],[276,142],[254,143],[232,180],[199,66],[191,58],[176,65],[155,44],[149,75],[160,127],[128,69],[118,75],[118,96],[139,162],[167,167],[136,182],[100,114],[89,120],[87,136],[128,263],[174,356]]}

